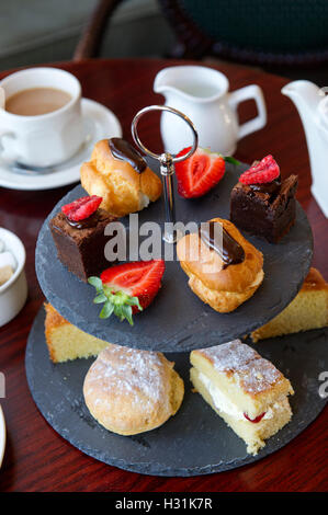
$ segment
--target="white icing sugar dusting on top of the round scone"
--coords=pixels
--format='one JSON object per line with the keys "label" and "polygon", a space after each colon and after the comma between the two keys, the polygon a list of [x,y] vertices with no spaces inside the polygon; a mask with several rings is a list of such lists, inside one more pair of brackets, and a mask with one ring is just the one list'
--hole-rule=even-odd
{"label": "white icing sugar dusting on top of the round scone", "polygon": [[146,410],[168,397],[162,368],[158,353],[110,345],[88,373],[88,390],[97,388],[101,398],[128,396],[132,403],[142,402]]}

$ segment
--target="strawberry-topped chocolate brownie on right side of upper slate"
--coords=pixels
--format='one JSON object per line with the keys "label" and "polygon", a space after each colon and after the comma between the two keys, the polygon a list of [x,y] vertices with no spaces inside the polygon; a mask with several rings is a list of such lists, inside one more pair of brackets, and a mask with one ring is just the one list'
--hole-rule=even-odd
{"label": "strawberry-topped chocolate brownie on right side of upper slate", "polygon": [[244,172],[230,196],[230,220],[241,230],[276,243],[295,222],[297,175],[282,180],[272,156]]}

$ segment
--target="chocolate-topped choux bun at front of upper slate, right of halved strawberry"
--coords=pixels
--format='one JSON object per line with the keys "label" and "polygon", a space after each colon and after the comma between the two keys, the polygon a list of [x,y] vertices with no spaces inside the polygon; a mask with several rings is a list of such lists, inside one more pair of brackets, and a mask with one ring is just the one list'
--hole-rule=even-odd
{"label": "chocolate-topped choux bun at front of upper slate, right of halved strawberry", "polygon": [[264,277],[262,253],[222,218],[184,236],[177,253],[192,291],[222,313],[249,299]]}

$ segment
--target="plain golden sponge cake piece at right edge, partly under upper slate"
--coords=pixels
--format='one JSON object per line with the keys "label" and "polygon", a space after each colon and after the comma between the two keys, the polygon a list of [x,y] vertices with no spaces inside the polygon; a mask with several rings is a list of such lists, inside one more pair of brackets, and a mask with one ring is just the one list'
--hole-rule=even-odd
{"label": "plain golden sponge cake piece at right edge, partly under upper slate", "polygon": [[251,333],[253,342],[328,325],[328,284],[310,268],[294,300],[274,319]]}

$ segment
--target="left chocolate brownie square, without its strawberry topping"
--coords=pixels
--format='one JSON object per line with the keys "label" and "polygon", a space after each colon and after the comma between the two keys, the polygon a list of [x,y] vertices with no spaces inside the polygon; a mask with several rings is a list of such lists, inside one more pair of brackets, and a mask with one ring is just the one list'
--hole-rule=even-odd
{"label": "left chocolate brownie square, without its strawberry topping", "polygon": [[104,249],[112,237],[105,236],[104,230],[116,218],[101,208],[81,222],[69,221],[61,211],[50,220],[58,259],[80,279],[87,282],[88,277],[99,275],[111,265],[105,259]]}

